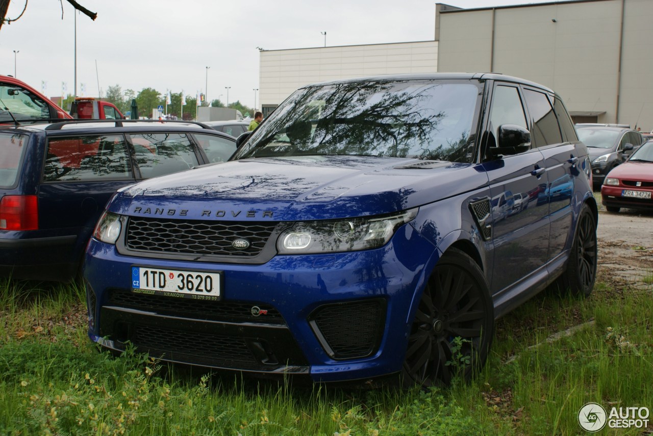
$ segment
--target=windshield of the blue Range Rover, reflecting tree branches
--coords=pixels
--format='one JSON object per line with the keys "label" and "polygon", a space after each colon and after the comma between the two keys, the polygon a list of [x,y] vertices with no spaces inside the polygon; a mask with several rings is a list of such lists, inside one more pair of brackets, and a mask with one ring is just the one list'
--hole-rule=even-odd
{"label": "windshield of the blue Range Rover, reflecting tree branches", "polygon": [[351,81],[296,91],[234,158],[350,154],[472,162],[482,84]]}

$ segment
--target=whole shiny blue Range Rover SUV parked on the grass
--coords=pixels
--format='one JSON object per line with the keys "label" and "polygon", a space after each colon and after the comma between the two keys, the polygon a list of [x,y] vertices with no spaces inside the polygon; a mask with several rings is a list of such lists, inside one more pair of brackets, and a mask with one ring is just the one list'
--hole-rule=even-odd
{"label": "whole shiny blue Range Rover SUV parked on the grass", "polygon": [[[210,368],[447,383],[483,366],[496,317],[554,281],[592,291],[589,171],[536,83],[309,85],[229,162],[119,190],[86,254],[89,336]],[[505,193],[529,204],[494,207]]]}

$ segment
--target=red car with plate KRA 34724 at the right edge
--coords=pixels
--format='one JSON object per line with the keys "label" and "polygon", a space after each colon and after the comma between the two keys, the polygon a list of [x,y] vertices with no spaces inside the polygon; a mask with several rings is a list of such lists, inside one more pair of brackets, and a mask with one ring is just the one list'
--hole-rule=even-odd
{"label": "red car with plate KRA 34724 at the right edge", "polygon": [[648,141],[608,173],[601,186],[601,203],[608,212],[622,207],[653,211],[652,197],[653,141]]}

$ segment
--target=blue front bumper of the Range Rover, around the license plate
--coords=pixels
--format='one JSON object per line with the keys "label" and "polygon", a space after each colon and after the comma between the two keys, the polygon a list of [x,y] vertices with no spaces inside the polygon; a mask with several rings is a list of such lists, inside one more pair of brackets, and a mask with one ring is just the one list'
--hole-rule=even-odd
{"label": "blue front bumper of the Range Rover, around the license plate", "polygon": [[[210,368],[315,381],[378,377],[402,367],[413,303],[435,253],[410,225],[377,250],[277,255],[264,265],[126,257],[92,239],[89,336],[116,351],[129,341],[163,360]],[[220,271],[223,300],[137,295],[132,265]]]}

